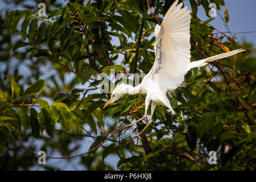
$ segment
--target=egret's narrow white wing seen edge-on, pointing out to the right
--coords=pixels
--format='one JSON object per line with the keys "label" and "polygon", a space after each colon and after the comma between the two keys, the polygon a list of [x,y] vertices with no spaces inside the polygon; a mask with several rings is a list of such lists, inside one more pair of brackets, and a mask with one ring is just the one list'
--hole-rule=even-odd
{"label": "egret's narrow white wing seen edge-on, pointing out to the right", "polygon": [[199,60],[199,61],[193,61],[193,62],[188,64],[188,71],[192,68],[195,68],[195,67],[203,67],[203,66],[207,65],[208,62],[210,62],[210,61],[222,59],[224,57],[233,56],[233,55],[236,55],[237,53],[240,53],[242,51],[245,51],[245,49],[242,49],[242,48],[241,49],[236,49],[234,51],[221,53],[221,54],[216,55],[216,56],[207,57],[206,59],[202,59],[202,60]]}

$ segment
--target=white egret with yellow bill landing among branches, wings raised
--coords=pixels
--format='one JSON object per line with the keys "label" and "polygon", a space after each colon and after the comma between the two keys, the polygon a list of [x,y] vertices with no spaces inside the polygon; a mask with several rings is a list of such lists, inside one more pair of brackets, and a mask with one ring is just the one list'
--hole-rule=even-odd
{"label": "white egret with yellow bill landing among branches, wings raised", "polygon": [[[203,67],[210,61],[222,59],[245,51],[244,49],[236,49],[203,60],[190,62],[190,10],[187,10],[187,6],[181,9],[183,3],[180,3],[179,5],[177,5],[177,3],[178,0],[175,1],[167,11],[162,25],[159,26],[156,24],[155,26],[155,62],[150,72],[144,76],[141,84],[138,86],[131,86],[123,83],[117,85],[112,92],[110,100],[104,106],[105,108],[112,102],[117,101],[123,94],[146,93],[145,113],[143,117],[125,127],[130,127],[146,118],[150,101],[152,101],[151,118],[144,129],[131,139],[136,137],[140,138],[139,136],[150,125],[156,105],[164,105],[175,114],[175,111],[172,109],[170,101],[168,100],[167,92],[169,90],[173,92],[181,86],[184,81],[184,76],[190,69]],[[125,127],[122,127],[121,129],[124,129]]]}

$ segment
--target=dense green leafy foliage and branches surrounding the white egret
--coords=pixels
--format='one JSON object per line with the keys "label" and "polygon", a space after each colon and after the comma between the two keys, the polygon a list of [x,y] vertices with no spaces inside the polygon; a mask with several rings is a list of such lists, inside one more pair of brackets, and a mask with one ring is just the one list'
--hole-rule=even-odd
{"label": "dense green leafy foliage and branches surrounding the white egret", "polygon": [[[25,10],[10,11],[5,23],[1,20],[0,169],[38,165],[37,157],[18,142],[21,130],[23,141],[41,139],[41,150],[58,150],[63,156],[78,154],[82,139],[93,138],[90,149],[95,150],[79,158],[87,169],[112,169],[104,162],[110,154],[119,157],[121,170],[255,168],[256,63],[251,44],[244,43],[246,51],[237,56],[189,71],[186,86],[170,97],[176,115],[157,106],[142,140],[126,143],[146,121],[130,133],[112,133],[122,121],[127,125],[142,117],[145,95],[125,95],[102,109],[110,94],[97,92],[97,76],[109,74],[110,68],[122,75],[150,71],[158,22],[147,1],[46,1],[46,17],[23,2],[17,3]],[[163,17],[172,2],[150,0],[149,5]],[[213,19],[201,22],[196,16],[197,6],[203,5],[208,15],[209,3],[220,9],[224,0],[189,2],[191,61],[242,48],[234,35],[221,42],[225,35],[213,34],[208,25]],[[31,150],[37,144],[33,141],[27,146]],[[217,164],[208,163],[210,151],[217,152]]]}

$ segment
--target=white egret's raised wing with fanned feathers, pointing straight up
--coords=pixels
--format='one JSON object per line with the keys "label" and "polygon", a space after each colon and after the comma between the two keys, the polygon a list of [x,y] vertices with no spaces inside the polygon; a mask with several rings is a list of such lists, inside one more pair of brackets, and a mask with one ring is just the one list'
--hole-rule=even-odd
{"label": "white egret's raised wing with fanned feathers, pointing straight up", "polygon": [[190,62],[190,10],[175,1],[155,27],[155,63],[150,73],[158,73],[160,86],[175,89],[184,81]]}

